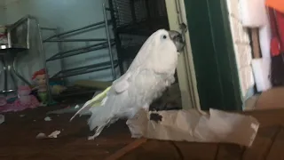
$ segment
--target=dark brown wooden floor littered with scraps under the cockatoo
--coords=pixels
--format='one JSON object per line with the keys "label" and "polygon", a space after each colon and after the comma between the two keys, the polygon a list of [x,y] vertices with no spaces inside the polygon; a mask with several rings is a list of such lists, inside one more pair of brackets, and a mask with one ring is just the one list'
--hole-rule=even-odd
{"label": "dark brown wooden floor littered with scraps under the cockatoo", "polygon": [[[186,159],[186,160],[258,160],[284,159],[284,109],[253,111],[261,123],[251,148],[232,144],[206,144],[130,139],[125,122],[111,125],[97,140],[87,140],[89,128],[86,117],[72,115],[51,116],[43,119],[47,110],[38,108],[16,114],[7,114],[0,124],[0,160],[19,159]],[[25,115],[20,117],[20,115]],[[57,139],[38,140],[39,132],[49,134],[61,131]]]}

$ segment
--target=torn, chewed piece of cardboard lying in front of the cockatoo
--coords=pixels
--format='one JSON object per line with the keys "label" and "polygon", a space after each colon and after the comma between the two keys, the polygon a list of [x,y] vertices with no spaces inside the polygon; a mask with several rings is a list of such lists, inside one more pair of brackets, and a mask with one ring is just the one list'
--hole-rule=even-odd
{"label": "torn, chewed piece of cardboard lying in front of the cockatoo", "polygon": [[197,110],[149,112],[140,110],[126,124],[132,138],[194,142],[227,142],[251,146],[259,123],[252,116],[210,109],[209,115]]}

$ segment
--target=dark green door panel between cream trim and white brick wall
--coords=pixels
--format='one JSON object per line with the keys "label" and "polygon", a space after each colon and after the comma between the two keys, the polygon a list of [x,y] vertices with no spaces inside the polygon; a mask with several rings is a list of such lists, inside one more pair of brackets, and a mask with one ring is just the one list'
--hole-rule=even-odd
{"label": "dark green door panel between cream trim and white brick wall", "polygon": [[184,1],[201,109],[241,110],[226,1]]}

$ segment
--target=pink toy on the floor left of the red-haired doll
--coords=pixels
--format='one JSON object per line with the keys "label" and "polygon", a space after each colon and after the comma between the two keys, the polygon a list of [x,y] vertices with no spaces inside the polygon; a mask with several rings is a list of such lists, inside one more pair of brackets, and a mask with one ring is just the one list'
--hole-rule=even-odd
{"label": "pink toy on the floor left of the red-haired doll", "polygon": [[6,104],[0,107],[0,112],[17,112],[26,108],[36,108],[40,105],[34,95],[30,95],[31,89],[28,86],[18,88],[18,99],[12,104]]}

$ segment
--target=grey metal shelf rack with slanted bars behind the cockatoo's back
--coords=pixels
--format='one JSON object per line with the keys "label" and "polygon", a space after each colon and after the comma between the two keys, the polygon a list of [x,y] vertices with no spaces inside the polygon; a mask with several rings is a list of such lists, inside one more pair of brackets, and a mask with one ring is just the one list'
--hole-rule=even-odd
{"label": "grey metal shelf rack with slanted bars behind the cockatoo's back", "polygon": [[[51,78],[65,78],[65,77],[68,77],[68,76],[78,76],[78,75],[83,75],[83,74],[87,74],[87,73],[111,68],[112,69],[112,76],[113,76],[113,80],[114,80],[115,79],[114,68],[117,67],[117,62],[114,61],[113,52],[111,50],[111,47],[114,46],[114,40],[110,39],[109,33],[106,34],[107,35],[106,38],[88,38],[88,39],[66,39],[66,38],[64,38],[64,36],[79,35],[80,33],[84,32],[84,31],[87,32],[87,31],[91,31],[91,30],[96,29],[96,28],[101,28],[101,27],[106,28],[106,23],[109,24],[109,21],[107,21],[107,20],[106,20],[106,22],[101,21],[101,22],[98,22],[98,23],[91,24],[89,26],[85,26],[83,28],[76,28],[76,29],[73,29],[73,30],[69,30],[69,31],[64,32],[64,33],[59,33],[59,34],[56,34],[54,36],[50,36],[50,37],[46,38],[45,40],[43,40],[43,43],[59,43],[59,44],[60,43],[68,43],[68,42],[99,42],[97,44],[91,44],[91,45],[88,45],[88,46],[85,46],[85,47],[79,47],[79,48],[75,48],[75,49],[64,51],[64,52],[62,50],[59,50],[58,53],[51,56],[51,58],[47,59],[46,62],[49,62],[51,60],[63,60],[64,58],[67,58],[67,57],[81,55],[83,53],[98,51],[98,50],[106,49],[106,48],[109,51],[110,60],[108,62],[102,62],[102,63],[83,66],[83,67],[79,67],[79,68],[62,69],[61,71],[59,71],[57,74],[55,74]],[[42,29],[47,30],[47,28],[42,28]],[[56,30],[56,28],[48,28],[48,30]],[[107,31],[108,31],[108,29],[107,29]]]}

